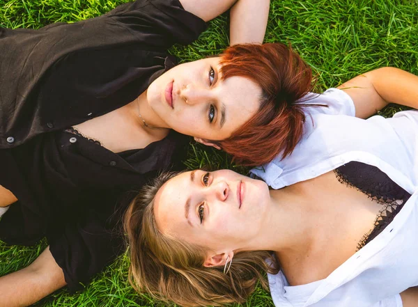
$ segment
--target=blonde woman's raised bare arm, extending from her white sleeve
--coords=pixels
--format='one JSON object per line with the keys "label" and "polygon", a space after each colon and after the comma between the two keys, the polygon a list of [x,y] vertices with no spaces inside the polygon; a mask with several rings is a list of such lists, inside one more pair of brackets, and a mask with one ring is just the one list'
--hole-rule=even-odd
{"label": "blonde woman's raised bare arm, extending from her white sleeve", "polygon": [[338,88],[353,99],[359,118],[368,118],[390,102],[418,109],[418,77],[398,68],[378,68]]}

